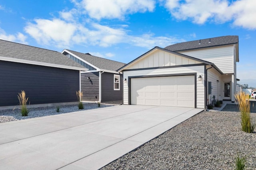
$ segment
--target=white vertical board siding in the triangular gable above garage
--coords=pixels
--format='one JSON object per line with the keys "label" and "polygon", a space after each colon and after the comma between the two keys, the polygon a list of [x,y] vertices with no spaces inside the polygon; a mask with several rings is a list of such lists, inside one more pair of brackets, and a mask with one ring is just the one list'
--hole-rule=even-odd
{"label": "white vertical board siding in the triangular gable above garage", "polygon": [[186,64],[199,64],[200,62],[188,59],[186,57],[181,57],[166,51],[154,50],[148,55],[142,57],[140,60],[128,66],[126,69],[136,69],[136,68],[152,68],[152,67],[162,67],[162,66],[176,66],[176,65],[186,65]]}

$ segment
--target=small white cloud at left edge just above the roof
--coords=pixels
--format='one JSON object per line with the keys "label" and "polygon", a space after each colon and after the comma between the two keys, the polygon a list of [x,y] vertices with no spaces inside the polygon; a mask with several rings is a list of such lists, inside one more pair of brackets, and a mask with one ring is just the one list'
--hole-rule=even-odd
{"label": "small white cloud at left edge just above the roof", "polygon": [[26,36],[20,32],[16,33],[15,35],[7,34],[3,29],[0,28],[0,39],[6,41],[12,41],[16,43],[28,44],[26,42]]}

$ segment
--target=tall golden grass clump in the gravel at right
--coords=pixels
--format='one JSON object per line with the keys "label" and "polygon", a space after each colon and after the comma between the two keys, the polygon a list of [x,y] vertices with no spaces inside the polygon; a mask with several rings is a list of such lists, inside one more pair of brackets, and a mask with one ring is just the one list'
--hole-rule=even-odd
{"label": "tall golden grass clump in the gravel at right", "polygon": [[238,104],[239,111],[241,113],[241,125],[242,131],[247,133],[253,133],[255,123],[252,123],[250,115],[250,100],[249,95],[245,92],[235,94],[236,104]]}

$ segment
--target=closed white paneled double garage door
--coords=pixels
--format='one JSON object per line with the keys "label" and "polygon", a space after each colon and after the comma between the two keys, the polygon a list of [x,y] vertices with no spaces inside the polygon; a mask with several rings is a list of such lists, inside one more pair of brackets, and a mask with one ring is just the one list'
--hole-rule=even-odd
{"label": "closed white paneled double garage door", "polygon": [[131,79],[131,104],[195,107],[194,76]]}

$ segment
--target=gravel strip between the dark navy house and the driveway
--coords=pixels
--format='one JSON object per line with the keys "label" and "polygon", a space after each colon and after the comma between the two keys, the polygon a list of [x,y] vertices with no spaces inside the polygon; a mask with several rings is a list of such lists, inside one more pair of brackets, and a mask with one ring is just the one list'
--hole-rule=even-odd
{"label": "gravel strip between the dark navy house and the driveway", "polygon": [[69,113],[74,111],[82,111],[82,110],[89,110],[89,109],[97,109],[101,107],[109,107],[113,106],[111,104],[98,104],[96,103],[87,103],[83,104],[84,109],[78,109],[78,105],[66,105],[60,106],[60,112],[56,111],[56,106],[53,107],[38,107],[38,108],[29,108],[28,116],[21,116],[20,109],[8,109],[8,110],[0,110],[0,123],[8,122],[8,121],[16,121],[22,119],[30,119],[33,117],[42,117],[48,115],[58,115],[62,113]]}

